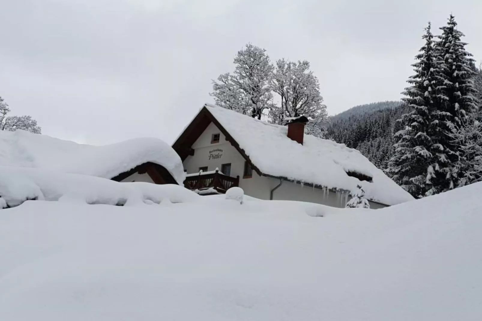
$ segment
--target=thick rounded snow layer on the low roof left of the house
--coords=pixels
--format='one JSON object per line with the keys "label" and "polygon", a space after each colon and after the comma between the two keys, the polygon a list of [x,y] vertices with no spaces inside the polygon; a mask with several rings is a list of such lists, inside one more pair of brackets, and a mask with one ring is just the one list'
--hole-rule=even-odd
{"label": "thick rounded snow layer on the low roof left of the house", "polygon": [[157,138],[92,146],[20,130],[0,131],[1,166],[43,168],[110,179],[145,162],[165,167],[178,184],[184,181],[180,157]]}

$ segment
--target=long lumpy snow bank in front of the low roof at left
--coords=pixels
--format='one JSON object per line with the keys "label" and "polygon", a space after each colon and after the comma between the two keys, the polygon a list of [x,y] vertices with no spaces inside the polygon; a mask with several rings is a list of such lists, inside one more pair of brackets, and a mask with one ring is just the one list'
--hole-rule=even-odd
{"label": "long lumpy snow bank in front of the low roof at left", "polygon": [[175,184],[119,183],[89,175],[0,166],[0,208],[17,206],[27,200],[135,206],[198,198],[196,193]]}

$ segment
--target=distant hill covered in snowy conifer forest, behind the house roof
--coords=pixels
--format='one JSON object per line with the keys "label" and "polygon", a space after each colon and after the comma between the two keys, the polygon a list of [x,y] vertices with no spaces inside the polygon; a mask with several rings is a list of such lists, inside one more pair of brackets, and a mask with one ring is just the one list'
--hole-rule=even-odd
{"label": "distant hill covered in snowy conifer forest, behind the house roof", "polygon": [[393,154],[393,133],[400,129],[396,120],[408,111],[394,101],[353,107],[332,117],[327,138],[358,149],[384,170]]}

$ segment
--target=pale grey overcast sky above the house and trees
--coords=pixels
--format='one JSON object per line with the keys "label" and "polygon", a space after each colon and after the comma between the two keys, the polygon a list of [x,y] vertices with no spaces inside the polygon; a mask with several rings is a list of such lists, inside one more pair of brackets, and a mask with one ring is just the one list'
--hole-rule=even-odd
{"label": "pale grey overcast sky above the house and trees", "polygon": [[0,96],[43,134],[172,143],[247,42],[307,59],[333,115],[401,97],[430,20],[482,59],[481,0],[0,0]]}

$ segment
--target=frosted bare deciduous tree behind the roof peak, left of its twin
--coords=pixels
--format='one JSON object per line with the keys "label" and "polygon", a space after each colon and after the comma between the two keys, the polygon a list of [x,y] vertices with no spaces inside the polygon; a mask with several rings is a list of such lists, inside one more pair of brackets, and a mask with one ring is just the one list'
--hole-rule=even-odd
{"label": "frosted bare deciduous tree behind the roof peak, left of its twin", "polygon": [[248,43],[234,58],[233,74],[220,75],[213,80],[215,103],[261,119],[270,107],[272,94],[269,87],[273,65],[266,50]]}

